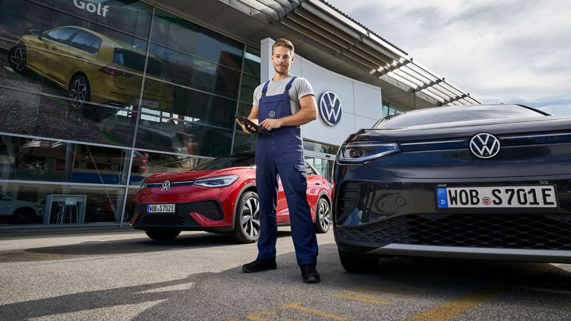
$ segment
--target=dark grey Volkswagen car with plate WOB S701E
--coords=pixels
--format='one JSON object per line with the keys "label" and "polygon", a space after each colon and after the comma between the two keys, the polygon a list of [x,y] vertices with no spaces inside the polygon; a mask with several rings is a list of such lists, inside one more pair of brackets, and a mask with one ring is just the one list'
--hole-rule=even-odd
{"label": "dark grey Volkswagen car with plate WOB S701E", "polygon": [[334,170],[345,270],[386,255],[571,263],[571,117],[411,111],[351,135]]}

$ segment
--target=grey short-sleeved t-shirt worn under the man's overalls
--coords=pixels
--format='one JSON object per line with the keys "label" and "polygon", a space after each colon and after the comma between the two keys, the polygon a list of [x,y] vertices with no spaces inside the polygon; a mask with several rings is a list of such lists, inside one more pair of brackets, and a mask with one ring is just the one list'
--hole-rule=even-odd
{"label": "grey short-sleeved t-shirt worn under the man's overalls", "polygon": [[[283,93],[285,91],[285,86],[287,86],[292,77],[293,75],[290,75],[279,81],[271,80],[270,83],[268,83],[268,91],[266,91],[266,96],[274,96]],[[254,91],[253,106],[260,106],[260,98],[262,97],[263,85],[264,83],[256,87],[256,90]],[[301,109],[301,106],[299,105],[300,98],[307,95],[315,96],[309,81],[301,77],[295,78],[288,93],[290,95],[291,113],[297,113]]]}

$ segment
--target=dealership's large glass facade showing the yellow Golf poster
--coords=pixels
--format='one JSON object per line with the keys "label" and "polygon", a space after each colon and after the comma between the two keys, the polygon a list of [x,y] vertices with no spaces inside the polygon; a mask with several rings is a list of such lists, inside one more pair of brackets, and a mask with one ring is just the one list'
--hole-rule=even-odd
{"label": "dealership's large glass facade showing the yellow Golf poster", "polygon": [[125,225],[144,178],[253,151],[260,51],[141,1],[0,1],[0,228]]}

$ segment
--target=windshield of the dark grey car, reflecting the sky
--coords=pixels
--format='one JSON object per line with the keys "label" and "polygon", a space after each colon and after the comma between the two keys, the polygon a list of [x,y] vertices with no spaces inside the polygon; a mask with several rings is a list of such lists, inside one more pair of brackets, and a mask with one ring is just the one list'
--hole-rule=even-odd
{"label": "windshield of the dark grey car, reflecting the sky", "polygon": [[383,118],[376,129],[397,129],[457,121],[483,121],[490,119],[545,116],[531,108],[517,105],[455,106],[409,111]]}

